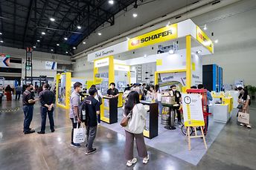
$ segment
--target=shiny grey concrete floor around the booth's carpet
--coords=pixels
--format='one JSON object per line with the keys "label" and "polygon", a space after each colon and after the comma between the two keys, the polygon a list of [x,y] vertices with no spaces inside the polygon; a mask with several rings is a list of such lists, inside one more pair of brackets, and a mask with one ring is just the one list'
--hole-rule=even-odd
{"label": "shiny grey concrete floor around the booth's carpet", "polygon": [[[0,169],[256,169],[256,132],[237,125],[235,117],[220,132],[217,139],[202,157],[197,166],[147,147],[150,162],[143,165],[142,160],[132,168],[127,168],[124,159],[123,135],[98,127],[95,154],[86,156],[86,148],[72,148],[70,145],[71,122],[68,112],[57,108],[54,114],[56,131],[47,134],[22,133],[23,113],[1,111],[4,108],[17,108],[21,102],[0,104]],[[251,122],[255,122],[256,104],[251,106]],[[39,131],[39,105],[34,108],[32,128]],[[135,151],[135,157],[138,157]]]}

